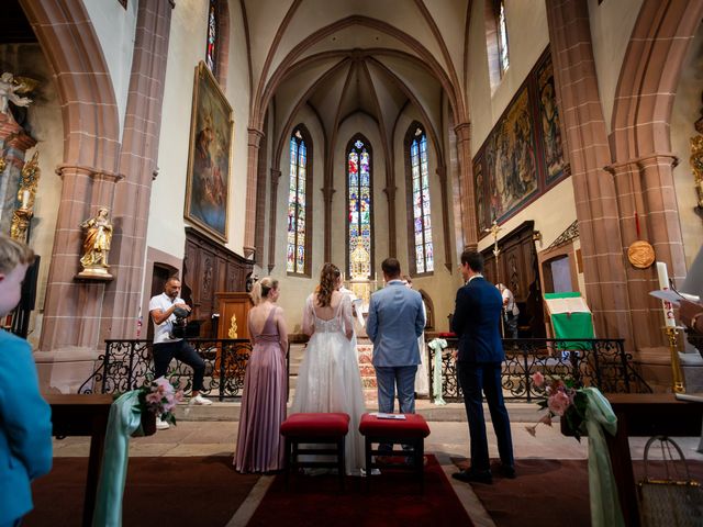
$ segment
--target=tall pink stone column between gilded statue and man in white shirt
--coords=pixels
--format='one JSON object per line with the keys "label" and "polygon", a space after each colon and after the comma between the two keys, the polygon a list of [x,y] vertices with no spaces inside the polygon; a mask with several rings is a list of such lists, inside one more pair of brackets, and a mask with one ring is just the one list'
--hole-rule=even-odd
{"label": "tall pink stone column between gilded statue and man in white shirt", "polygon": [[[135,338],[144,288],[146,229],[152,183],[158,167],[164,104],[164,82],[172,7],[168,0],[140,2],[124,117],[120,172],[112,221],[115,226],[110,253],[115,280],[108,284],[100,344],[108,338]],[[146,283],[150,283],[150,277]],[[148,323],[148,316],[146,316]]]}

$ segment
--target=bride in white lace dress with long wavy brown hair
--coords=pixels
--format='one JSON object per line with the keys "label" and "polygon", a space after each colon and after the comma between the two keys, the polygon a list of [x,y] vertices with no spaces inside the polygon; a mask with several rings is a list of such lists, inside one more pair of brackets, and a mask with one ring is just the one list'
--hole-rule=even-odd
{"label": "bride in white lace dress with long wavy brown hair", "polygon": [[366,411],[354,343],[352,302],[338,291],[339,269],[325,264],[320,285],[308,296],[303,332],[310,335],[300,365],[291,413],[343,412],[349,414],[346,437],[346,473],[359,475],[364,467],[364,439],[359,421]]}

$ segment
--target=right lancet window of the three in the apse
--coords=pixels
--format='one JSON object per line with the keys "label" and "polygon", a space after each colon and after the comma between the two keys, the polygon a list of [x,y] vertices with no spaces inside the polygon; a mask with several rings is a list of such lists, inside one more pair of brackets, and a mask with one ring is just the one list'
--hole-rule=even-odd
{"label": "right lancet window of the three in the apse", "polygon": [[[412,210],[410,261],[414,262],[417,274],[435,269],[432,245],[432,210],[429,205],[429,171],[427,169],[427,134],[414,124],[406,136],[410,157],[408,187],[412,190],[409,209]],[[410,215],[410,214],[409,214]]]}

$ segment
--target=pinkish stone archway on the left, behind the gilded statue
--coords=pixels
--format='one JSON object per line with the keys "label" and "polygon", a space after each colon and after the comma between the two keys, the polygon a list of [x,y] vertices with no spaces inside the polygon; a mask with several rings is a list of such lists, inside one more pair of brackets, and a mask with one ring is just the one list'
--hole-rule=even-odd
{"label": "pinkish stone archway on the left, behind the gilded statue", "polygon": [[80,0],[20,0],[54,71],[64,121],[63,179],[40,349],[93,349],[103,283],[74,281],[80,221],[112,205],[120,179],[118,105],[102,47]]}

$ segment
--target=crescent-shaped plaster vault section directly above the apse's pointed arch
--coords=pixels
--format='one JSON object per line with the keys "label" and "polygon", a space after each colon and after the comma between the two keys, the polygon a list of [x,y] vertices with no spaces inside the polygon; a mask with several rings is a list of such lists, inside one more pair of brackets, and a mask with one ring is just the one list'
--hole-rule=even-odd
{"label": "crescent-shaped plaster vault section directly above the apse's pointed arch", "polygon": [[[281,64],[290,49],[304,42],[319,30],[353,15],[373,19],[384,25],[395,27],[398,31],[405,33],[408,37],[420,41],[434,56],[442,57],[440,48],[426,20],[414,2],[409,0],[346,0],[332,2],[328,0],[305,0],[300,4],[286,29],[280,45],[274,55],[271,70],[268,76],[270,77],[271,72]],[[356,33],[358,35],[356,38],[361,38],[361,41],[352,47],[375,46],[373,38],[377,35],[373,34],[379,31],[382,32],[381,30],[369,27],[362,22],[355,24],[354,27],[357,29]],[[392,47],[398,46],[399,44],[395,44]]]}

